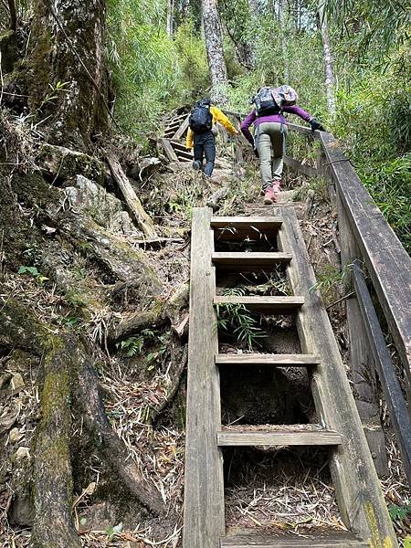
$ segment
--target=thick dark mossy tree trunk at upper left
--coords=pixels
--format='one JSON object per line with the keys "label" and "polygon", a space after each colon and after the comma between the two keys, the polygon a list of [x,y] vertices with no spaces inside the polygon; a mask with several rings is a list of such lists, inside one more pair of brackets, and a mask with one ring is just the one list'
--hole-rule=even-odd
{"label": "thick dark mossy tree trunk at upper left", "polygon": [[[88,144],[107,127],[104,0],[34,0],[24,75],[29,106],[55,142]],[[42,126],[44,127],[44,126]]]}

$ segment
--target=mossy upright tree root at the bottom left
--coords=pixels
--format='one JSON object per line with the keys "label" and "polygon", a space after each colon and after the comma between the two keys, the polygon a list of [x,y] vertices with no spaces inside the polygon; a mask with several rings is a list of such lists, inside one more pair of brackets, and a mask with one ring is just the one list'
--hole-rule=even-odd
{"label": "mossy upright tree root at the bottom left", "polygon": [[[72,344],[56,338],[45,361],[41,420],[34,449],[35,521],[32,542],[39,548],[79,548],[71,516],[70,369]],[[50,527],[52,524],[52,527]]]}

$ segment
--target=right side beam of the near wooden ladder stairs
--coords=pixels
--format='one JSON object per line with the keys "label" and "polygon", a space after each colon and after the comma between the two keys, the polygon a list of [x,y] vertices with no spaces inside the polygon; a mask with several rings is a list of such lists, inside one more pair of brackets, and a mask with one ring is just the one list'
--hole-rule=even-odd
{"label": "right side beam of the near wooden ladder stairs", "polygon": [[321,357],[311,374],[312,395],[321,425],[340,432],[343,444],[332,451],[330,469],[342,520],[372,546],[398,546],[393,524],[374,469],[363,425],[353,400],[344,364],[318,291],[310,258],[294,211],[282,211],[279,248],[293,253],[287,271],[294,292],[305,295],[297,314],[303,353]]}

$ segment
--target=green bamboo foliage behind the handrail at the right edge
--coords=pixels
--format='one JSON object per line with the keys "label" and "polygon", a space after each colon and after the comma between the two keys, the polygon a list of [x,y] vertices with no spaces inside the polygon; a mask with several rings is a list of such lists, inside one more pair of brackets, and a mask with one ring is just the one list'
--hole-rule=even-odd
{"label": "green bamboo foliage behind the handrail at the right edge", "polygon": [[335,132],[357,173],[411,250],[411,82],[394,69],[375,67],[339,91]]}

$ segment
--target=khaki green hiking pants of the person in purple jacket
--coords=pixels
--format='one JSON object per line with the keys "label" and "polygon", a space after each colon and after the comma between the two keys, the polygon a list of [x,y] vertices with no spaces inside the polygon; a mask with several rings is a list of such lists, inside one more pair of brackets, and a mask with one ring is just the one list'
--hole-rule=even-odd
{"label": "khaki green hiking pants of the person in purple jacket", "polygon": [[259,156],[259,172],[263,190],[279,189],[284,163],[287,126],[277,121],[264,121],[256,128],[255,141]]}

